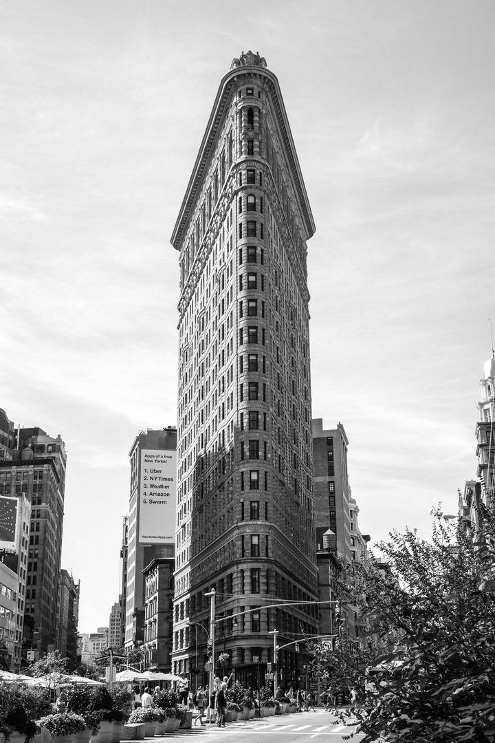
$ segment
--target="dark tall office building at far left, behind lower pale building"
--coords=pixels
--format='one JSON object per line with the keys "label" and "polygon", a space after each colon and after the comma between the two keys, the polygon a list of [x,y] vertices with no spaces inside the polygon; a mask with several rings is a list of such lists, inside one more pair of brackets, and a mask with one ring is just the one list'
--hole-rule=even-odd
{"label": "dark tall office building at far left, behind lower pale building", "polygon": [[[0,416],[3,425],[7,416]],[[10,424],[10,428],[13,426]],[[24,499],[28,523],[22,525],[19,549],[5,562],[19,575],[19,618],[16,635],[22,653],[35,649],[42,657],[56,648],[62,525],[65,496],[65,445],[42,429],[18,428],[1,434],[0,495]],[[20,660],[20,658],[19,658]]]}

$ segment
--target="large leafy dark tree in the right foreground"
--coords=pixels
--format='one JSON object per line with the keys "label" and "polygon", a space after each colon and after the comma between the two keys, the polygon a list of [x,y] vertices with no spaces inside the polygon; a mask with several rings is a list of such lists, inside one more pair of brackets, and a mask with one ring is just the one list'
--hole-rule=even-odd
{"label": "large leafy dark tree in the right foreground", "polygon": [[358,712],[363,743],[495,741],[494,516],[476,532],[434,516],[430,542],[394,531],[378,545],[387,571],[358,571],[349,593],[387,648]]}

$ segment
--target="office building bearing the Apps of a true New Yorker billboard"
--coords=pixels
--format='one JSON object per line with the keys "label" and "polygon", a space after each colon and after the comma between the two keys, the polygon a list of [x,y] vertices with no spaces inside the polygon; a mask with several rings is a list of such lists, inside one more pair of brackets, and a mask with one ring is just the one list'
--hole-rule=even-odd
{"label": "office building bearing the Apps of a true New Yorker billboard", "polygon": [[125,646],[145,638],[145,580],[151,560],[174,557],[177,429],[142,431],[129,452],[131,490],[128,521],[122,535],[122,602],[125,601]]}

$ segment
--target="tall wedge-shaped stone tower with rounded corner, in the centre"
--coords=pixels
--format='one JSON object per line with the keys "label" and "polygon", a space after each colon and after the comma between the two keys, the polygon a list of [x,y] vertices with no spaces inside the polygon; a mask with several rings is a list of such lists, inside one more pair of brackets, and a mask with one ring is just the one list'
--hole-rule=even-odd
{"label": "tall wedge-shaped stone tower with rounded corner, in the centre", "polygon": [[[243,53],[220,82],[171,238],[181,291],[176,672],[194,662],[189,626],[208,624],[211,588],[217,649],[247,685],[258,659],[272,659],[272,629],[279,645],[315,635],[315,605],[287,606],[317,597],[306,274],[314,230],[278,80],[258,54]],[[263,609],[274,603],[285,605]],[[204,655],[201,629],[198,641]],[[279,662],[283,683],[295,680],[293,645]]]}

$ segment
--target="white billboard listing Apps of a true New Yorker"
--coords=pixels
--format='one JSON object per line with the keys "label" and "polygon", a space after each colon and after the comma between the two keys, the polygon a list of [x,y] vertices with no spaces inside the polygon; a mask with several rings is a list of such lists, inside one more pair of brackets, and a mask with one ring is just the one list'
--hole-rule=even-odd
{"label": "white billboard listing Apps of a true New Yorker", "polygon": [[142,449],[140,470],[140,528],[138,540],[174,544],[177,452]]}

